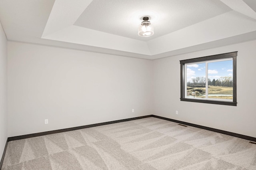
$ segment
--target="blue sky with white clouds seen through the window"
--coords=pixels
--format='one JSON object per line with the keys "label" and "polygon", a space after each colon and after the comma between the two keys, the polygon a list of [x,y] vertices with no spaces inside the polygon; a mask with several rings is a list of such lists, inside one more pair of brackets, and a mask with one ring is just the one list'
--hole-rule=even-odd
{"label": "blue sky with white clouds seen through the window", "polygon": [[[192,78],[205,77],[206,63],[193,63],[187,65],[187,82],[192,82]],[[217,80],[220,77],[233,76],[233,61],[218,61],[208,63],[208,79]]]}

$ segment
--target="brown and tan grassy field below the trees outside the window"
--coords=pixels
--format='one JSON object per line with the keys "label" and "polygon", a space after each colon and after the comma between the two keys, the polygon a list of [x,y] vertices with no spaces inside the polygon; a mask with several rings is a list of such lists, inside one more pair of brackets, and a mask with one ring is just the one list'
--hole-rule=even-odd
{"label": "brown and tan grassy field below the trees outside the window", "polygon": [[[187,86],[187,97],[206,98],[205,86]],[[233,99],[233,87],[208,86],[208,98]]]}

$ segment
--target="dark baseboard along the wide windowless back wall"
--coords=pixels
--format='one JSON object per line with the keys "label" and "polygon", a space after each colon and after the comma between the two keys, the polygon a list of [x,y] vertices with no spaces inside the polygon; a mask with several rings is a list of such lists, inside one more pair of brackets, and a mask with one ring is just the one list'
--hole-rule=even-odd
{"label": "dark baseboard along the wide windowless back wall", "polygon": [[64,128],[64,129],[59,129],[59,130],[51,130],[51,131],[47,131],[47,132],[39,132],[39,133],[33,133],[33,134],[25,134],[25,135],[21,135],[21,136],[13,136],[13,137],[9,137],[7,139],[7,141],[32,138],[32,137],[37,137],[37,136],[44,136],[44,135],[48,135],[48,134],[67,132],[67,131],[78,130],[78,129],[82,129],[82,128],[90,128],[90,127],[97,127],[97,126],[102,126],[102,125],[109,125],[109,124],[113,124],[113,123],[132,121],[132,120],[143,119],[143,118],[152,117],[152,116],[153,115],[147,115],[147,116],[134,117],[134,118],[129,118],[129,119],[121,119],[118,121],[110,121],[110,122],[104,122],[104,123],[96,123],[96,124],[92,124],[92,125],[84,125],[84,126],[80,126],[80,127]]}

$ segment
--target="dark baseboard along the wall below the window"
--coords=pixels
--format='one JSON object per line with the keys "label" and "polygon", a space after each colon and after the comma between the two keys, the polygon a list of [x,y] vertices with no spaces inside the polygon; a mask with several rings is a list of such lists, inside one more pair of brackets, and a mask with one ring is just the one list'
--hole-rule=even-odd
{"label": "dark baseboard along the wall below the window", "polygon": [[156,118],[159,118],[159,119],[164,119],[166,121],[172,121],[172,122],[180,123],[180,124],[183,124],[183,125],[188,125],[188,126],[191,126],[191,127],[202,128],[202,129],[210,130],[210,131],[213,131],[213,132],[227,134],[227,135],[230,135],[230,136],[234,136],[234,137],[238,137],[238,138],[242,138],[242,139],[251,140],[251,141],[256,142],[256,138],[251,137],[251,136],[246,136],[246,135],[243,135],[243,134],[228,132],[228,131],[219,130],[219,129],[216,129],[216,128],[204,127],[204,126],[201,126],[201,125],[196,125],[196,124],[187,123],[187,122],[183,122],[183,121],[177,121],[177,120],[174,120],[174,119],[169,119],[169,118],[166,118],[166,117],[160,117],[160,116],[156,116],[156,115],[152,115],[152,117],[156,117]]}

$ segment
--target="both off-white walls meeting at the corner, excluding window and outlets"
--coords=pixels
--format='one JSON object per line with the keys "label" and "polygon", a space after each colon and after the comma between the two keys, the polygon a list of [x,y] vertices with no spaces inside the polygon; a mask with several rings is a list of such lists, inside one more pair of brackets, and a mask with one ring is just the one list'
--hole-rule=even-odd
{"label": "both off-white walls meeting at the corner, excluding window and outlets", "polygon": [[[8,136],[154,114],[256,137],[255,47],[250,41],[150,61],[8,42]],[[232,51],[236,107],[180,101],[180,60]]]}

